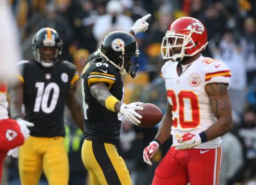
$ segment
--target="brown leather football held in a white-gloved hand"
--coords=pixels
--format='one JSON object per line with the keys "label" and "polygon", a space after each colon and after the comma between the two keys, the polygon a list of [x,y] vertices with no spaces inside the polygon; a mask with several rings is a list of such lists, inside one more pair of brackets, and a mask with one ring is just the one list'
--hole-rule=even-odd
{"label": "brown leather football held in a white-gloved hand", "polygon": [[162,120],[163,113],[158,106],[152,103],[143,103],[139,104],[139,106],[144,108],[143,111],[137,111],[142,115],[142,119],[139,119],[141,121],[141,124],[139,124],[140,127],[153,127]]}

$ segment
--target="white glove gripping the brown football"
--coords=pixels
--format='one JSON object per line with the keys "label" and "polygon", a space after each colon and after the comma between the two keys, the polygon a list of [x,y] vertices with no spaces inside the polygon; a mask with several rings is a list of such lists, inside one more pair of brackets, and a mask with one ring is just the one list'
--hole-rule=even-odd
{"label": "white glove gripping the brown football", "polygon": [[139,113],[137,113],[136,111],[137,110],[142,111],[144,109],[143,107],[139,107],[138,106],[139,104],[142,104],[142,102],[133,102],[130,104],[123,103],[120,107],[120,113],[122,113],[122,115],[127,117],[135,125],[138,125],[141,123],[141,121],[139,121],[137,117],[139,119],[142,119],[142,116],[139,115]]}

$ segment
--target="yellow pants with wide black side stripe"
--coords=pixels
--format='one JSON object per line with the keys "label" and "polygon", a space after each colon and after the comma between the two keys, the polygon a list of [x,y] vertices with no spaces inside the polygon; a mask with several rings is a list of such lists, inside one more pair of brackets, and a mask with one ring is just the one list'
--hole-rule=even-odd
{"label": "yellow pants with wide black side stripe", "polygon": [[129,171],[114,145],[84,140],[81,154],[92,185],[131,184]]}

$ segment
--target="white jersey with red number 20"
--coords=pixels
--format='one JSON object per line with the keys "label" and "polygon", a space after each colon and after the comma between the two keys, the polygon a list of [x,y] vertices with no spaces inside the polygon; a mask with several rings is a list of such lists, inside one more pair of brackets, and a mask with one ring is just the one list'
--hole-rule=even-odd
{"label": "white jersey with red number 20", "polygon": [[[231,73],[221,61],[200,56],[180,75],[178,62],[167,61],[161,75],[166,82],[167,99],[172,106],[171,134],[174,144],[183,134],[205,131],[217,119],[205,92],[208,83],[229,83]],[[204,142],[196,148],[211,149],[221,145],[221,138]]]}

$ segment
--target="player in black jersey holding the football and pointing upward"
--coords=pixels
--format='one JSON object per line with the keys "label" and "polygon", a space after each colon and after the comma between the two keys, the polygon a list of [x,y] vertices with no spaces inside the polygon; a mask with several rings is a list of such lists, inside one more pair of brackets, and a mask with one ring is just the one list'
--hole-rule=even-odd
{"label": "player in black jersey holding the football and pointing upward", "polygon": [[82,71],[85,117],[82,162],[92,184],[131,184],[129,171],[115,145],[119,142],[122,115],[138,125],[142,116],[136,110],[143,107],[139,106],[141,102],[122,103],[121,77],[126,74],[135,77],[139,50],[133,35],[147,30],[148,17],[150,14],[138,19],[130,33],[115,31],[106,35],[101,49],[89,57]]}

